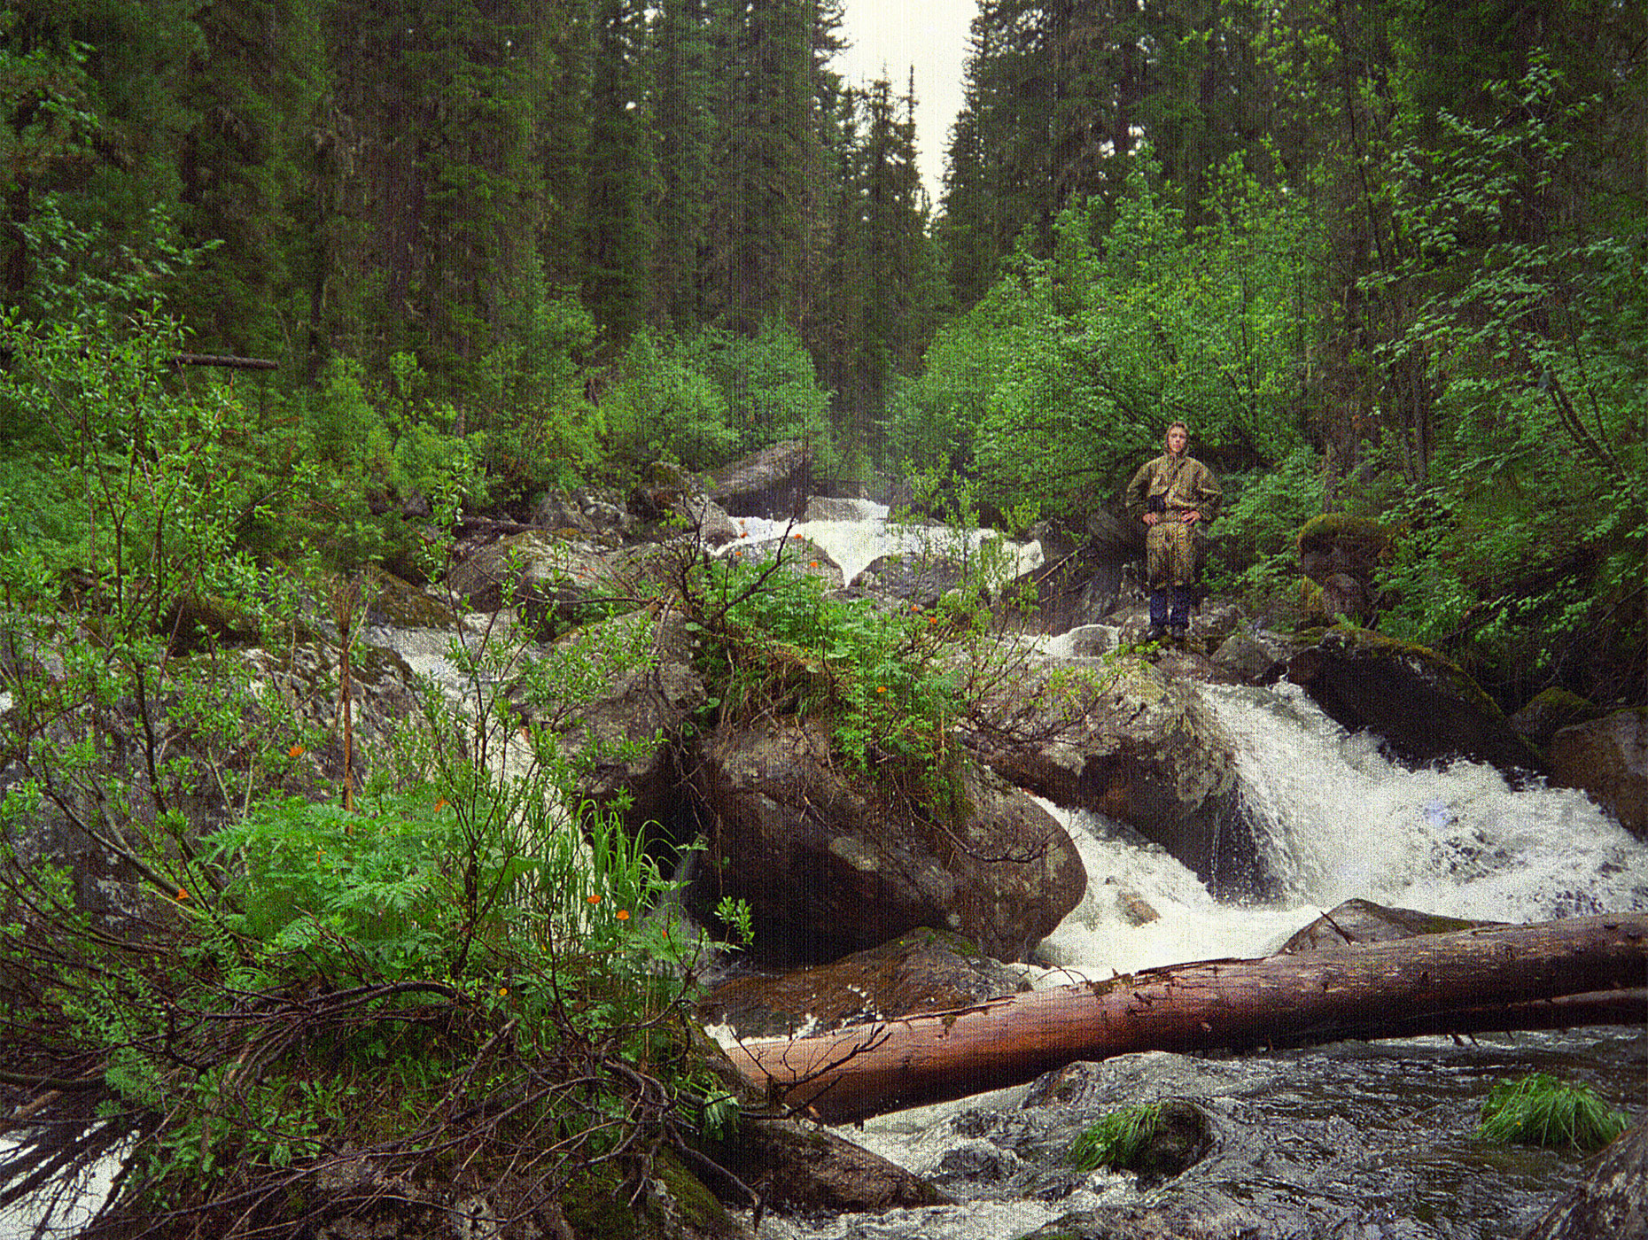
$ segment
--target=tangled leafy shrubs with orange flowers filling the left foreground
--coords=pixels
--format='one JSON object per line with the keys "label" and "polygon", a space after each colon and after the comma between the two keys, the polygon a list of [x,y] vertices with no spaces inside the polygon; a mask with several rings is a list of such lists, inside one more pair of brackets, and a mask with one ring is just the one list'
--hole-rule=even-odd
{"label": "tangled leafy shrubs with orange flowers filling the left foreground", "polygon": [[[175,339],[138,326],[7,324],[3,399],[53,448],[36,461],[54,502],[84,514],[49,558],[23,540],[0,553],[0,985],[31,1013],[12,1062],[87,1082],[71,1126],[92,1136],[66,1166],[130,1143],[112,1215],[300,1227],[333,1202],[311,1189],[343,1148],[542,1200],[582,1168],[646,1174],[686,1130],[730,1126],[679,1023],[705,944],[648,841],[577,794],[630,748],[565,733],[643,664],[646,626],[542,659],[496,626],[455,641],[466,688],[425,685],[356,795],[348,728],[302,725],[290,690],[341,688],[325,669],[361,659],[369,599],[236,555],[252,482],[226,445],[244,410],[178,394]],[[415,478],[414,367],[396,379],[369,402],[341,375],[311,441]],[[259,649],[232,649],[246,639]],[[318,670],[298,682],[295,665]],[[331,774],[308,751],[338,744],[343,802],[293,795]],[[26,860],[43,828],[117,868],[120,916]],[[35,1166],[35,1140],[0,1184]]]}

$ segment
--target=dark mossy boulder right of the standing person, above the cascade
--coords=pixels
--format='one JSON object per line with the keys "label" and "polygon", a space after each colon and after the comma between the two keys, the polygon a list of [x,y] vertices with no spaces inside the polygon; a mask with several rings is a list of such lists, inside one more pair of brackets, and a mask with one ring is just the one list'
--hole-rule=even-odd
{"label": "dark mossy boulder right of the standing person, above the cascade", "polygon": [[1543,771],[1539,753],[1493,698],[1424,646],[1369,629],[1330,629],[1289,660],[1287,678],[1340,726],[1378,733],[1404,762],[1470,758],[1506,772]]}

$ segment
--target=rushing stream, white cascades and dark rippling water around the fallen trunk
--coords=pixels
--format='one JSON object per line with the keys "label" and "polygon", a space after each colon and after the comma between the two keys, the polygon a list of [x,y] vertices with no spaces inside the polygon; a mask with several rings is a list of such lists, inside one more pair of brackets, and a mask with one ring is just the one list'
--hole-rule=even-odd
{"label": "rushing stream, white cascades and dark rippling water around the fallen trunk", "polygon": [[[880,515],[799,532],[857,570],[887,547]],[[771,537],[773,527],[751,524],[750,534]],[[1346,734],[1289,685],[1201,692],[1236,738],[1244,812],[1280,894],[1220,902],[1126,827],[1055,809],[1081,850],[1088,894],[1043,942],[1051,968],[1037,970],[1038,985],[1266,955],[1353,897],[1505,922],[1648,909],[1648,846],[1579,792],[1513,787],[1477,762],[1393,764],[1376,736]],[[1140,902],[1155,921],[1135,924]],[[1012,1240],[1073,1212],[1155,1210],[1162,1230],[1122,1233],[1511,1240],[1582,1179],[1585,1159],[1475,1140],[1483,1097],[1538,1070],[1585,1082],[1636,1113],[1648,1107],[1645,1059],[1648,1039],[1632,1028],[1121,1056],[1088,1070],[1074,1105],[1025,1108],[1028,1087],[1018,1087],[840,1130],[929,1176],[954,1205],[768,1217],[760,1235]],[[1167,1097],[1192,1100],[1213,1120],[1211,1153],[1190,1171],[1140,1182],[1065,1163],[1071,1138],[1103,1113]]]}

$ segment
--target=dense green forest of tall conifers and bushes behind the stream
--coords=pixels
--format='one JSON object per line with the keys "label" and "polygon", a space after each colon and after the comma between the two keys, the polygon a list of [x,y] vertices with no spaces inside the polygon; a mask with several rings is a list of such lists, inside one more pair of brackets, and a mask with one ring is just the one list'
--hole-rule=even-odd
{"label": "dense green forest of tall conifers and bushes behind the stream", "polygon": [[[394,560],[453,459],[522,510],[794,435],[1079,529],[1185,418],[1257,614],[1348,512],[1394,535],[1381,626],[1505,705],[1648,697],[1640,5],[987,0],[936,204],[839,25],[23,0],[3,300],[119,334],[158,298],[279,364],[236,427],[255,555]],[[7,537],[71,547],[41,427],[0,438]]]}

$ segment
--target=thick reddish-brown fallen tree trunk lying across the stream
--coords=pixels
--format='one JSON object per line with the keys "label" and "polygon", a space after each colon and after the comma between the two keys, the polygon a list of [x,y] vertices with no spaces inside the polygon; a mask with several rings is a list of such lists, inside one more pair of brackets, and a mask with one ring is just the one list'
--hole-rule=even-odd
{"label": "thick reddish-brown fallen tree trunk lying across the stream", "polygon": [[1641,996],[1608,995],[1645,985],[1633,912],[1168,965],[728,1054],[771,1100],[842,1121],[1134,1051],[1641,1019]]}

